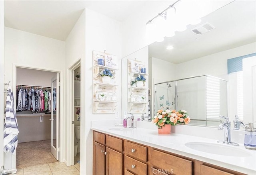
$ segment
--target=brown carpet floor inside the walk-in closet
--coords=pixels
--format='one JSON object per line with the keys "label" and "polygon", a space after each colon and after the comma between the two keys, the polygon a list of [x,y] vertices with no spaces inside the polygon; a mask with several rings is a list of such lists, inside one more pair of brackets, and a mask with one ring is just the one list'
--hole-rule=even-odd
{"label": "brown carpet floor inside the walk-in closet", "polygon": [[50,145],[51,140],[19,143],[16,148],[16,169],[57,162]]}

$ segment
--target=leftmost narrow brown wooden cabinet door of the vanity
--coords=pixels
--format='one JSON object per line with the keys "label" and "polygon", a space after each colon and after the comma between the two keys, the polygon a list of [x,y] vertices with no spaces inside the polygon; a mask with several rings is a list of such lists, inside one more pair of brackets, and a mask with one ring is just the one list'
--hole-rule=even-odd
{"label": "leftmost narrow brown wooden cabinet door of the vanity", "polygon": [[105,146],[93,142],[93,174],[105,175]]}

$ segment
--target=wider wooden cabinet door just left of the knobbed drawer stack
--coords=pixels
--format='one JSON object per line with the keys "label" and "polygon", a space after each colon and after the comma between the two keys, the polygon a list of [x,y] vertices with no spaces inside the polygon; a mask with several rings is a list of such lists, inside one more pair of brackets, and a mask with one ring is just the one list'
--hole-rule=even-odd
{"label": "wider wooden cabinet door just left of the knobbed drawer stack", "polygon": [[123,154],[106,147],[106,175],[123,174]]}

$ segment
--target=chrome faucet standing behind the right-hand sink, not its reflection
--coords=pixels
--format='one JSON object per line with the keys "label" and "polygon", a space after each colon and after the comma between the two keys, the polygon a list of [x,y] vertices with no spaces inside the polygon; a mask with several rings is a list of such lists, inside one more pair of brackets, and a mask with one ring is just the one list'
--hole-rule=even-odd
{"label": "chrome faucet standing behind the right-hand sink, not its reflection", "polygon": [[220,116],[220,118],[225,119],[225,121],[218,126],[218,130],[224,129],[224,141],[219,140],[218,143],[239,146],[238,144],[231,142],[231,135],[230,135],[231,122],[229,121],[229,118],[225,116]]}

